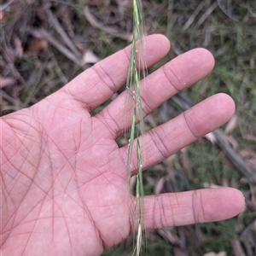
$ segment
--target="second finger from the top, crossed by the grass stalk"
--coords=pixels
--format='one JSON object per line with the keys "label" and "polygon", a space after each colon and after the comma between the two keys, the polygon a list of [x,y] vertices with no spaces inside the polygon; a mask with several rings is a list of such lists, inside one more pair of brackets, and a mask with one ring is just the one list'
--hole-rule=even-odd
{"label": "second finger from the top, crossed by the grass stalk", "polygon": [[[204,78],[213,67],[214,59],[210,52],[206,49],[192,49],[148,75],[141,81],[143,116],[151,113],[177,92]],[[120,94],[95,116],[108,127],[113,138],[125,131],[125,125],[131,125],[131,120],[125,120],[125,112],[131,111],[133,104],[128,108],[125,106],[125,93],[127,92]]]}

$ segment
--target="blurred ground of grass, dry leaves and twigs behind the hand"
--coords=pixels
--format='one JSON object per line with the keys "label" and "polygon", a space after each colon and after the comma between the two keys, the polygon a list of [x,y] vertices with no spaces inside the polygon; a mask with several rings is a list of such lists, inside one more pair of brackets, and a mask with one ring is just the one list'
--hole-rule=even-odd
{"label": "blurred ground of grass, dry leaves and twigs behind the hand", "polygon": [[[216,60],[206,79],[148,115],[146,129],[218,92],[236,102],[228,124],[145,172],[145,194],[230,186],[246,198],[230,220],[148,231],[145,255],[256,255],[255,2],[143,0],[143,8],[147,34],[165,34],[172,44],[149,73],[196,47]],[[130,44],[131,11],[131,0],[1,0],[1,116],[32,106]],[[129,237],[102,255],[131,255],[132,247]]]}

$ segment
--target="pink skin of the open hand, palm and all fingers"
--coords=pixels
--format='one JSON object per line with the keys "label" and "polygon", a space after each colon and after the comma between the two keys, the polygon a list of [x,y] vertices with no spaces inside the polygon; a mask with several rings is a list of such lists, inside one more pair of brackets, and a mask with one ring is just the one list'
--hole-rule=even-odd
{"label": "pink skin of the open hand, palm and all fingers", "polygon": [[[169,49],[161,35],[146,38],[148,67]],[[32,108],[1,119],[3,255],[100,255],[132,232],[128,148],[115,143],[125,129],[125,95],[90,115],[125,84],[130,50],[98,62]],[[143,113],[195,84],[213,66],[206,49],[193,49],[160,67],[147,84],[142,81]],[[148,131],[145,168],[223,125],[234,111],[230,96],[218,94]],[[144,204],[145,228],[155,229],[231,218],[241,212],[244,198],[236,189],[200,189],[147,196]]]}

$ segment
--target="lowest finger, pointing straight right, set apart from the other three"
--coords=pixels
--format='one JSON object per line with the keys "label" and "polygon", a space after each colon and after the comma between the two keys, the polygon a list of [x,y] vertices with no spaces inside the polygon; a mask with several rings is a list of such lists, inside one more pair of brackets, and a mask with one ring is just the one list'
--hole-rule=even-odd
{"label": "lowest finger, pointing straight right, set apart from the other three", "polygon": [[244,207],[244,197],[237,189],[199,189],[146,196],[144,204],[144,228],[151,230],[232,218]]}

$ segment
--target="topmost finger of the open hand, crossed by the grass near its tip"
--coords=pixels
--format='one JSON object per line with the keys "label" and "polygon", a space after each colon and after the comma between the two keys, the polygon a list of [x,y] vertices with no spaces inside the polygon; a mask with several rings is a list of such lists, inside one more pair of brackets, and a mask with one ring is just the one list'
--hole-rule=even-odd
{"label": "topmost finger of the open hand, crossed by the grass near its tip", "polygon": [[[145,61],[148,67],[160,61],[169,51],[169,40],[160,35],[145,38]],[[106,102],[125,84],[131,45],[96,63],[62,88],[67,94],[92,111]]]}

